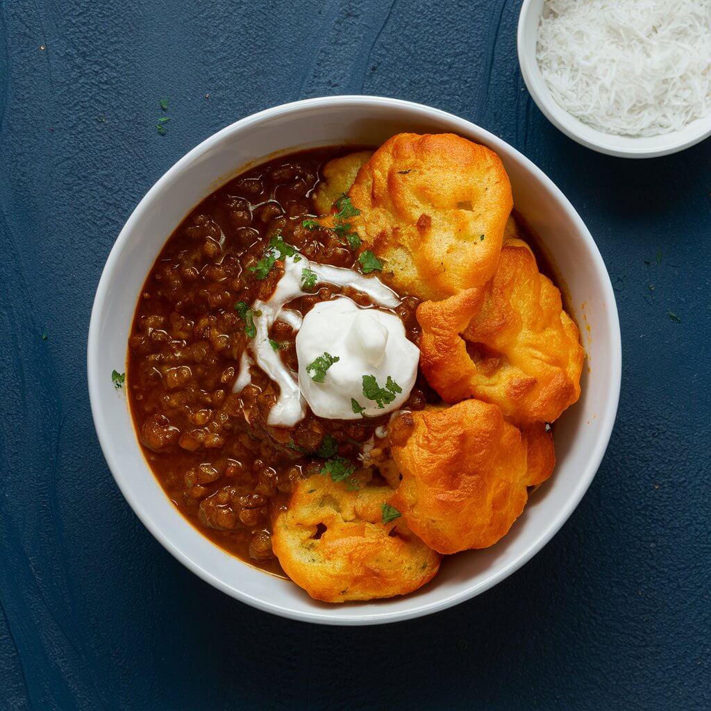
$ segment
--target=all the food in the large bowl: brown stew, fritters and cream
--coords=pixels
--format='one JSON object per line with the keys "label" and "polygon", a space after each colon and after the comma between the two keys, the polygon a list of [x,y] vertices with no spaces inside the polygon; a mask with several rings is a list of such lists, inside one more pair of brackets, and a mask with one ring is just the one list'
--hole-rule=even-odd
{"label": "all the food in the large bowl: brown stew, fritters and cream", "polygon": [[512,208],[498,156],[454,134],[282,156],[205,198],[129,338],[176,508],[325,602],[407,594],[506,535],[583,361]]}

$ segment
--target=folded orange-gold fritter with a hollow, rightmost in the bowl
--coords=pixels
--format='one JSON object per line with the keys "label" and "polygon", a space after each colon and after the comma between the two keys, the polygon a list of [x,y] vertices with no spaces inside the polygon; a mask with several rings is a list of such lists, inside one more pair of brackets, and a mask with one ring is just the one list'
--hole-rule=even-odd
{"label": "folded orange-gold fritter with a hollow, rightmost in the bowl", "polygon": [[553,422],[580,395],[584,353],[560,292],[508,239],[491,282],[417,309],[420,364],[447,402],[477,397],[516,424]]}

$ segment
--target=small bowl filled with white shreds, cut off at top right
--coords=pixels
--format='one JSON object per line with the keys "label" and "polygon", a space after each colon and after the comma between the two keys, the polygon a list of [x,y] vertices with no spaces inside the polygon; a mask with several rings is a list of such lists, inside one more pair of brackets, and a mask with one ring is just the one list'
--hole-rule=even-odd
{"label": "small bowl filled with white shreds, cut off at top right", "polygon": [[711,0],[524,0],[531,97],[594,151],[653,158],[711,135]]}

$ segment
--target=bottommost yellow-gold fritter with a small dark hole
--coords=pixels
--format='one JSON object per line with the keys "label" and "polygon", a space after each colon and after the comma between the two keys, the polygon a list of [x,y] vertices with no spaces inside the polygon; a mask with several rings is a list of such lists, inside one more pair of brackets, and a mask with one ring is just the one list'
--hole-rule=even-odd
{"label": "bottommost yellow-gold fritter with a small dark hole", "polygon": [[393,597],[422,587],[439,570],[440,556],[404,518],[383,523],[383,503],[391,497],[387,486],[348,491],[346,483],[318,474],[300,481],[287,510],[274,517],[272,547],[284,572],[324,602]]}

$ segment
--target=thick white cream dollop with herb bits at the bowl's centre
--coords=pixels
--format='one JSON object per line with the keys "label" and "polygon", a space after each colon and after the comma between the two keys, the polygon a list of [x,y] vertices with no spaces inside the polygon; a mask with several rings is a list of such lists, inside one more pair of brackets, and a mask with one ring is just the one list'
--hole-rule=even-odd
{"label": "thick white cream dollop with herb bits at the bowl's centre", "polygon": [[[312,378],[314,370],[309,371],[309,365],[324,353],[338,360],[319,383]],[[328,419],[361,419],[399,409],[410,397],[419,362],[419,348],[407,340],[405,326],[395,314],[363,309],[346,296],[321,301],[304,316],[296,336],[296,355],[299,390],[314,414]],[[386,388],[390,378],[402,392],[387,390],[395,397],[379,407],[365,397],[363,375],[373,376],[380,388]],[[353,400],[364,408],[362,415],[354,412]]]}

